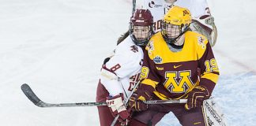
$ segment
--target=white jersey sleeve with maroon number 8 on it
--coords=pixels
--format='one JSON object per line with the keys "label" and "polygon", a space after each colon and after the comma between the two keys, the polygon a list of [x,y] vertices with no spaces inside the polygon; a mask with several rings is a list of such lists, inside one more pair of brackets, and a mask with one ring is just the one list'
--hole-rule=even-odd
{"label": "white jersey sleeve with maroon number 8 on it", "polygon": [[115,55],[103,65],[100,76],[101,82],[112,96],[123,92],[120,79],[141,69],[138,67],[142,58],[139,48],[137,46],[125,47],[122,43],[119,45],[115,50]]}

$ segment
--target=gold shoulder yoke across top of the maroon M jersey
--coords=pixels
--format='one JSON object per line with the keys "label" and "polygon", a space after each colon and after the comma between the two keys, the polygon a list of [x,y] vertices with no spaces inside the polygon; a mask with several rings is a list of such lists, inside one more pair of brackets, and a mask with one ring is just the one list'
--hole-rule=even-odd
{"label": "gold shoulder yoke across top of the maroon M jersey", "polygon": [[149,44],[145,48],[148,50],[149,58],[153,61],[156,57],[161,57],[162,61],[155,62],[156,64],[179,61],[196,61],[200,59],[205,53],[208,40],[203,35],[193,31],[186,31],[184,34],[185,43],[183,49],[179,52],[172,52],[169,49],[168,44],[164,41],[160,32],[153,35]]}

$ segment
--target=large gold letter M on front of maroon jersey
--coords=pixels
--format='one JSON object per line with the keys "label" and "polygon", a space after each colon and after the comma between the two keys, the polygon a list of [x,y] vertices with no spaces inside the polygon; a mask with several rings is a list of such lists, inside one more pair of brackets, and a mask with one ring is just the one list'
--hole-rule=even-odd
{"label": "large gold letter M on front of maroon jersey", "polygon": [[165,72],[164,87],[171,93],[184,93],[194,87],[190,79],[191,71]]}

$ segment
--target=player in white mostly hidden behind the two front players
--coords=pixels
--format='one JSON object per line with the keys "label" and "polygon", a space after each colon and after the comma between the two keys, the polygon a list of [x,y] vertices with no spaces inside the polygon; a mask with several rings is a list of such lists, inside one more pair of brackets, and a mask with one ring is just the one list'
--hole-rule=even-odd
{"label": "player in white mostly hidden behind the two front players", "polygon": [[155,32],[160,31],[164,14],[168,12],[173,4],[190,10],[193,18],[190,30],[205,35],[211,46],[214,46],[217,31],[206,0],[137,0],[137,8],[149,9],[152,13]]}

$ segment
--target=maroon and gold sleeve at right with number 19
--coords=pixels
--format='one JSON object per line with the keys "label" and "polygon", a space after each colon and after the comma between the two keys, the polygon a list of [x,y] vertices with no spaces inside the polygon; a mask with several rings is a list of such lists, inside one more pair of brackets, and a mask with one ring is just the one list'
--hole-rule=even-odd
{"label": "maroon and gold sleeve at right with number 19", "polygon": [[200,57],[198,67],[201,73],[199,85],[205,86],[211,94],[220,75],[219,68],[207,40],[201,43],[201,46],[198,46],[198,52],[198,57]]}

